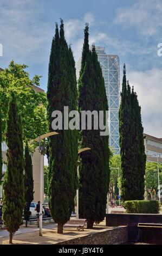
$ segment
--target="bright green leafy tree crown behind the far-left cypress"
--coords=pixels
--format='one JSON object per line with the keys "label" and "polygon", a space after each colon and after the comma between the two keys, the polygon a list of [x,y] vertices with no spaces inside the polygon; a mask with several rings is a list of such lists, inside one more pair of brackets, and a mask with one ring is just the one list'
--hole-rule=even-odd
{"label": "bright green leafy tree crown behind the far-left cypress", "polygon": [[10,93],[15,92],[22,117],[23,141],[34,139],[47,131],[46,105],[47,98],[43,92],[35,92],[40,77],[32,80],[25,71],[28,66],[12,61],[9,67],[0,72],[0,105],[2,111],[2,137],[5,141],[5,123]]}

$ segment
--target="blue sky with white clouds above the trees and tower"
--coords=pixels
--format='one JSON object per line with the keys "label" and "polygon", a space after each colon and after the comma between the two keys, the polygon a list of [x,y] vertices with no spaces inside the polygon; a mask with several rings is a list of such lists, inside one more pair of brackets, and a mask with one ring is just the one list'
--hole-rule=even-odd
{"label": "blue sky with white clouds above the trees and tower", "polygon": [[118,54],[120,75],[126,63],[127,80],[141,105],[144,132],[162,138],[161,0],[0,0],[0,67],[14,59],[41,75],[47,90],[48,63],[55,22],[64,21],[65,35],[77,63],[83,29],[89,23],[89,42]]}

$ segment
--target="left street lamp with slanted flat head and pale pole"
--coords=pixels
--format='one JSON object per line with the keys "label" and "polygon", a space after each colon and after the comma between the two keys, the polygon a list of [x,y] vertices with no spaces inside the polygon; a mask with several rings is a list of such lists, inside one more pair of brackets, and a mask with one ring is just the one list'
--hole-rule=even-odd
{"label": "left street lamp with slanted flat head and pale pole", "polygon": [[[41,154],[41,141],[42,139],[48,138],[53,135],[59,134],[58,132],[48,132],[46,134],[43,134],[32,141],[39,143],[39,152]],[[32,142],[31,141],[31,142]],[[41,154],[41,160],[40,160],[40,236],[42,236],[42,194],[43,194],[43,167],[44,167],[44,155]]]}

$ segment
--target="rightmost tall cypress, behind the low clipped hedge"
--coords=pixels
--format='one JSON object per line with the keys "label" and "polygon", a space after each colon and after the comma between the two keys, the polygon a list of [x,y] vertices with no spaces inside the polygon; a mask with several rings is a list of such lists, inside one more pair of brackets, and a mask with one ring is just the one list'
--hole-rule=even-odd
{"label": "rightmost tall cypress, behind the low clipped hedge", "polygon": [[121,197],[125,200],[141,200],[144,197],[145,148],[137,94],[126,84],[126,69],[122,81],[119,110],[121,154]]}

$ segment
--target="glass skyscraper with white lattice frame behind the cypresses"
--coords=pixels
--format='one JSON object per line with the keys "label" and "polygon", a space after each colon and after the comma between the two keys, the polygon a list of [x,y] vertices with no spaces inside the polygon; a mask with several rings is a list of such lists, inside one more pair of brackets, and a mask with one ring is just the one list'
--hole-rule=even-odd
{"label": "glass skyscraper with white lattice frame behind the cypresses", "polygon": [[119,57],[105,53],[105,47],[95,47],[105,80],[106,95],[109,107],[109,145],[120,153],[119,147],[119,103],[120,103],[120,65]]}

